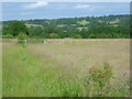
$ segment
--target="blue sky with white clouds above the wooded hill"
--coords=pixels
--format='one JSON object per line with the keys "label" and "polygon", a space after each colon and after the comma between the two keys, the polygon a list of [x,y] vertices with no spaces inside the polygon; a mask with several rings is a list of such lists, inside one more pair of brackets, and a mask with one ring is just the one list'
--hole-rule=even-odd
{"label": "blue sky with white clouds above the wooded hill", "polygon": [[129,2],[3,2],[2,20],[129,14]]}

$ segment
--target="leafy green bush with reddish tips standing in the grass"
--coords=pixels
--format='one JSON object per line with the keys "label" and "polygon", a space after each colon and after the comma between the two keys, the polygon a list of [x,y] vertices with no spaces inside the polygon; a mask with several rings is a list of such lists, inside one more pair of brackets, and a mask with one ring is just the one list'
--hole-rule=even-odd
{"label": "leafy green bush with reddish tips standing in the grass", "polygon": [[109,63],[105,63],[102,69],[97,67],[91,67],[89,69],[89,84],[92,84],[94,90],[103,90],[112,77],[112,68]]}

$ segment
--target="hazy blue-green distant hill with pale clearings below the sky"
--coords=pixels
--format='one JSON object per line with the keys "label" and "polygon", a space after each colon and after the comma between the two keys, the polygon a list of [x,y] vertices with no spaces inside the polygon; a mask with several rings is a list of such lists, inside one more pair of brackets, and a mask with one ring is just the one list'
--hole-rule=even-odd
{"label": "hazy blue-green distant hill with pale clearings below the sky", "polygon": [[87,16],[87,18],[65,18],[55,20],[28,20],[26,24],[65,25],[65,26],[98,26],[98,25],[129,25],[130,15],[108,15],[108,16]]}

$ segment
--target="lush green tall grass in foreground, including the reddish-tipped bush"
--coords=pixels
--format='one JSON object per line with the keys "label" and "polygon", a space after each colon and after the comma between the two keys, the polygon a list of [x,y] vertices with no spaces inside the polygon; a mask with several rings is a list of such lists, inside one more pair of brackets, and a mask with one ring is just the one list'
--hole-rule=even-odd
{"label": "lush green tall grass in foreground, including the reddish-tipped bush", "polygon": [[[3,46],[3,97],[127,97],[129,80],[118,79],[109,63],[78,77],[56,61],[28,47]],[[76,76],[77,75],[77,76]]]}

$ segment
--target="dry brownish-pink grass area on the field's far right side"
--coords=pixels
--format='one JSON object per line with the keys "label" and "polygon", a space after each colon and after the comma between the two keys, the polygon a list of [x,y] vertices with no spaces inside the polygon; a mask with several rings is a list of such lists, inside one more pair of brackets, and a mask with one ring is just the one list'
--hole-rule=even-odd
{"label": "dry brownish-pink grass area on the field's far right side", "polygon": [[129,41],[30,44],[28,47],[30,52],[46,56],[67,68],[80,70],[108,62],[118,74],[129,74],[130,70]]}

